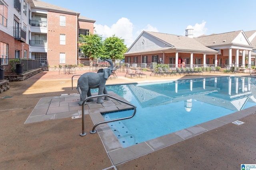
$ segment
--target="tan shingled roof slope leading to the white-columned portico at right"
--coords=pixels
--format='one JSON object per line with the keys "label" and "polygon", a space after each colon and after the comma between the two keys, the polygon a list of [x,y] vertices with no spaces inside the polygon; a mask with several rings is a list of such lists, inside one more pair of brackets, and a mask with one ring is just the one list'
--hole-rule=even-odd
{"label": "tan shingled roof slope leading to the white-columned portico at right", "polygon": [[220,33],[220,34],[200,36],[200,37],[197,37],[197,38],[194,38],[194,39],[196,39],[198,42],[202,43],[206,47],[231,44],[232,41],[238,36],[238,34],[241,31],[242,30],[228,32],[228,33]]}

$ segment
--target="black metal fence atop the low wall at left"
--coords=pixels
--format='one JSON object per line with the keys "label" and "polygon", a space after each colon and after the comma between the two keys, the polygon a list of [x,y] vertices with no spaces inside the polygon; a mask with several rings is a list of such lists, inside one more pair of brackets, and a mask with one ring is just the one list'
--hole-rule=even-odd
{"label": "black metal fence atop the low wall at left", "polygon": [[34,59],[2,59],[0,58],[0,66],[4,68],[4,74],[16,73],[19,68],[21,73],[29,70],[40,68],[40,61]]}

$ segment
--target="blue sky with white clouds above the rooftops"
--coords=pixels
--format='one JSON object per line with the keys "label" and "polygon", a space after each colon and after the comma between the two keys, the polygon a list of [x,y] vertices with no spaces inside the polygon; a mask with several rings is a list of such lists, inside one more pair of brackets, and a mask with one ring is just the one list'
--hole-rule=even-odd
{"label": "blue sky with white clouds above the rooftops", "polygon": [[[115,35],[129,48],[142,31],[194,37],[256,30],[256,0],[41,0],[95,20],[103,38]],[[94,32],[95,33],[95,32]]]}

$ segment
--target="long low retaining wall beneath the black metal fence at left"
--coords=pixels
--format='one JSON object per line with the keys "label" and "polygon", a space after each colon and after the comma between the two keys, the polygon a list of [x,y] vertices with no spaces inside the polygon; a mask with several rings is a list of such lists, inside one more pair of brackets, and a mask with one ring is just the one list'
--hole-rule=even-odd
{"label": "long low retaining wall beneath the black metal fence at left", "polygon": [[25,72],[23,74],[4,74],[4,79],[5,80],[9,80],[10,82],[12,81],[23,81],[26,80],[36,74],[38,74],[39,72],[42,71],[42,68],[38,68],[35,70],[30,70],[28,72]]}

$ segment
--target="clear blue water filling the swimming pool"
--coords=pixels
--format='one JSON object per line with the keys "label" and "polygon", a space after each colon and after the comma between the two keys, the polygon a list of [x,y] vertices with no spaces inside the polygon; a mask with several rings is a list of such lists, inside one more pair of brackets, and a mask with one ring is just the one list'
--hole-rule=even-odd
{"label": "clear blue water filling the swimming pool", "polygon": [[[123,147],[128,147],[255,106],[254,84],[255,78],[224,76],[107,86],[136,106],[134,117],[108,125]],[[102,115],[110,120],[133,112]]]}

